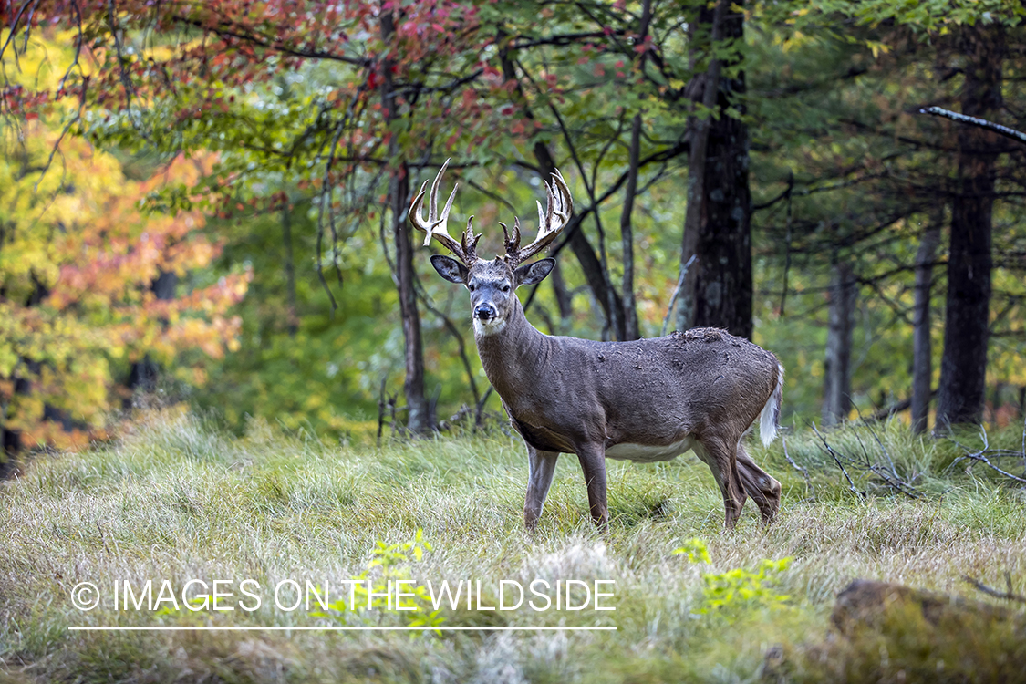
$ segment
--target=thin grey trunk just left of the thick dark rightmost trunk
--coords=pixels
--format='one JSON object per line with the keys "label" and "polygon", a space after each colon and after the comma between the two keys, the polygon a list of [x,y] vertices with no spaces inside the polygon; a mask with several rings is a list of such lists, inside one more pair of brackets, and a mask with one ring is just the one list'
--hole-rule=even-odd
{"label": "thin grey trunk just left of the thick dark rightmost trunk", "polygon": [[934,281],[934,259],[941,242],[944,207],[930,217],[915,255],[915,304],[912,309],[912,432],[930,429],[931,381],[934,363],[930,340],[930,289]]}

